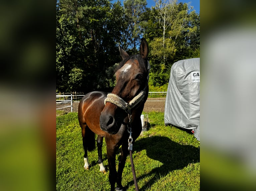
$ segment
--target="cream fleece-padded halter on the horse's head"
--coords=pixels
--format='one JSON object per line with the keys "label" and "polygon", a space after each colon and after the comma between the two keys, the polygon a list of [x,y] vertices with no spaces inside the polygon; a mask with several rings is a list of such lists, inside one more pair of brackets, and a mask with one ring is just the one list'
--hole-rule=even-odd
{"label": "cream fleece-padded halter on the horse's head", "polygon": [[[149,80],[149,71],[150,71],[150,64],[147,62],[147,69],[148,69],[148,76],[147,80]],[[141,91],[138,95],[136,95],[129,103],[127,103],[125,100],[123,100],[121,97],[115,94],[108,94],[107,98],[104,100],[104,104],[106,105],[106,102],[110,102],[115,104],[116,106],[123,109],[126,113],[131,115],[131,110],[141,101],[143,101],[143,98],[145,97],[145,91],[146,87],[143,91]]]}

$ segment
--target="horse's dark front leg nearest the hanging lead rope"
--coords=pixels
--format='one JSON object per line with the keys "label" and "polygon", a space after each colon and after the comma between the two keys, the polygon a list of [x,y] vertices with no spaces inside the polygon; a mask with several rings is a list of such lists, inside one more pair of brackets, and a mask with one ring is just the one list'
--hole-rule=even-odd
{"label": "horse's dark front leg nearest the hanging lead rope", "polygon": [[116,190],[118,190],[118,191],[123,190],[122,174],[123,174],[123,170],[124,170],[124,166],[125,166],[125,162],[126,162],[126,158],[127,158],[128,153],[129,153],[128,144],[125,144],[125,143],[122,144],[120,160],[119,160],[119,163],[118,163],[118,172],[117,172],[117,187],[116,187]]}

